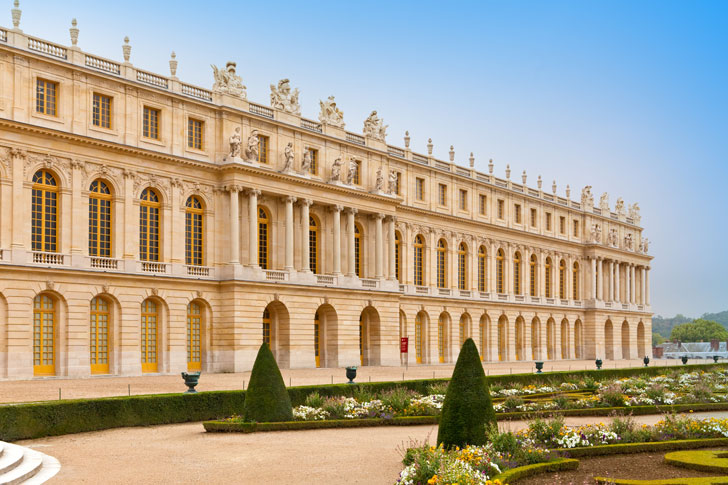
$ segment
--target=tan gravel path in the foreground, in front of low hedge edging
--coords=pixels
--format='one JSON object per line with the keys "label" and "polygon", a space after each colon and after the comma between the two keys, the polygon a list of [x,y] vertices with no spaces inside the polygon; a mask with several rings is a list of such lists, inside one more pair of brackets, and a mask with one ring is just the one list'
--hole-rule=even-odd
{"label": "tan gravel path in the foreground, in front of low hedge edging", "polygon": [[[728,417],[728,412],[694,413]],[[639,416],[654,424],[659,415]],[[570,425],[607,417],[567,418]],[[500,423],[517,430],[524,421]],[[23,446],[61,462],[51,483],[394,483],[399,450],[413,440],[434,442],[437,426],[390,426],[273,433],[205,433],[200,423],[120,428],[26,440]]]}

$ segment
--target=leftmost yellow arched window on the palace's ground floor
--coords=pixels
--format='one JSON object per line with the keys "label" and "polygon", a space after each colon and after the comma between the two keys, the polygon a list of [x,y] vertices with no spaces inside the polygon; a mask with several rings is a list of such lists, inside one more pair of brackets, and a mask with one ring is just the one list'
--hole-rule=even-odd
{"label": "leftmost yellow arched window on the palace's ground floor", "polygon": [[56,373],[56,305],[48,295],[33,299],[33,375]]}

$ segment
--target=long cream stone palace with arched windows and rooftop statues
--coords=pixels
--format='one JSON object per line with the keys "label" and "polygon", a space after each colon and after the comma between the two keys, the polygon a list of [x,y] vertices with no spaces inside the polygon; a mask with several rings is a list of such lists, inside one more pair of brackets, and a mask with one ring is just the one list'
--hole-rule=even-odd
{"label": "long cream stone palace with arched windows and rooftop statues", "polygon": [[[0,377],[651,355],[637,204],[0,28]],[[347,122],[348,123],[348,122]],[[534,187],[535,185],[535,187]],[[548,184],[547,184],[548,185]],[[400,354],[400,338],[409,351]]]}

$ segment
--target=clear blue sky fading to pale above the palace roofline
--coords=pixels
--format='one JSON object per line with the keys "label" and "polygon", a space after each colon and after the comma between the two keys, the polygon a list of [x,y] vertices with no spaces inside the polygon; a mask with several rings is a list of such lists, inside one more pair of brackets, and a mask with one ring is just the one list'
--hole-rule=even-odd
{"label": "clear blue sky fading to pale above the palace roofline", "polygon": [[[6,0],[3,25],[10,26]],[[103,5],[103,7],[100,7]],[[728,2],[21,0],[21,28],[212,85],[228,60],[264,104],[289,77],[303,115],[333,94],[347,128],[372,109],[388,141],[503,176],[541,174],[640,203],[655,313],[728,309]],[[520,178],[520,177],[517,177]]]}

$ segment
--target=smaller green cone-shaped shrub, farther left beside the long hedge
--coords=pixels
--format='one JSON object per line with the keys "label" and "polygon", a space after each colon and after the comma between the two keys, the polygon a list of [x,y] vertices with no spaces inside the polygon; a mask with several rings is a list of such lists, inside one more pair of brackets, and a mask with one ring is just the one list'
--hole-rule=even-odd
{"label": "smaller green cone-shaped shrub, farther left beside the long hedge", "polygon": [[263,343],[250,374],[250,384],[245,391],[243,419],[257,423],[293,421],[291,398],[283,383],[273,352]]}

